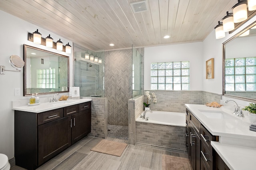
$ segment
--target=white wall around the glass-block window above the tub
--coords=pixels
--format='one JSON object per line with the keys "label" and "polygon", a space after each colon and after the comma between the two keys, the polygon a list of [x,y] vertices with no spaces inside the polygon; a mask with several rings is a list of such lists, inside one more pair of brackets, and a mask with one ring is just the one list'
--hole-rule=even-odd
{"label": "white wall around the glass-block window above the tub", "polygon": [[203,43],[185,43],[144,49],[144,90],[150,90],[150,63],[190,61],[190,90],[202,90]]}

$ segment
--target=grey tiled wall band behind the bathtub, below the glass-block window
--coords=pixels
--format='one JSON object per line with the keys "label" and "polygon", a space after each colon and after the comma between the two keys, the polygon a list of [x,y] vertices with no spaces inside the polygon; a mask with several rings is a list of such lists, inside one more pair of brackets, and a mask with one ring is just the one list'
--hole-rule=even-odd
{"label": "grey tiled wall band behind the bathtub, below the glass-block window", "polygon": [[[174,90],[144,90],[155,93],[157,104],[150,103],[150,110],[186,112],[185,104],[220,103],[221,94],[203,91],[174,91]],[[144,96],[144,102],[147,102]]]}

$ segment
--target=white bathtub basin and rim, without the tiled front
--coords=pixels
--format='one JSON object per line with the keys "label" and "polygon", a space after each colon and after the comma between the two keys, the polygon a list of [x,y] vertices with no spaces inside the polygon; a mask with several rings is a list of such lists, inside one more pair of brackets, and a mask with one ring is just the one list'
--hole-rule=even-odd
{"label": "white bathtub basin and rim, without the tiled front", "polygon": [[[186,127],[186,113],[181,112],[171,112],[171,111],[154,111],[153,113],[147,111],[145,119],[140,118],[136,119],[138,122],[145,123],[155,123],[160,125],[172,125],[172,126],[181,126]],[[141,113],[143,115],[144,111]],[[146,117],[148,120],[146,121]]]}

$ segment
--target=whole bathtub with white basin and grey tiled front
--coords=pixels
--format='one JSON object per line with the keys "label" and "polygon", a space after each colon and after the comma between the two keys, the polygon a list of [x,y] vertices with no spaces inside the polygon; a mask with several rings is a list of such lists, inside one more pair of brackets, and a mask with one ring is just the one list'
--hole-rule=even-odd
{"label": "whole bathtub with white basin and grey tiled front", "polygon": [[186,113],[148,111],[146,117],[136,119],[136,145],[187,153]]}

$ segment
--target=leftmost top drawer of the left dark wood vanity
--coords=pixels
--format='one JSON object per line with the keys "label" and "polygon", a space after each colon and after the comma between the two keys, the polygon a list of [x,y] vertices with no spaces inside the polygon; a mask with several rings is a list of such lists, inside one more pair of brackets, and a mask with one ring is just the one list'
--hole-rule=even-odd
{"label": "leftmost top drawer of the left dark wood vanity", "polygon": [[38,125],[54,121],[63,117],[63,109],[56,109],[47,111],[44,113],[39,113],[38,115]]}

